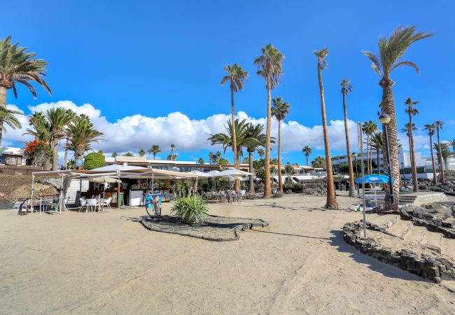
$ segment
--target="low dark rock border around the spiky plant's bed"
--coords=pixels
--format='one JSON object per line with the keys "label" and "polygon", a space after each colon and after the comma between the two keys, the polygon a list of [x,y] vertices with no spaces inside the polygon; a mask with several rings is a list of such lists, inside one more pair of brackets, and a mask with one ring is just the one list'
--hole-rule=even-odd
{"label": "low dark rock border around the spiky plant's bed", "polygon": [[[169,217],[170,216],[166,216]],[[240,232],[244,230],[251,230],[253,227],[260,227],[260,228],[265,228],[269,223],[267,221],[264,221],[262,219],[251,219],[251,218],[235,218],[235,217],[228,217],[228,216],[209,216],[209,217],[215,217],[215,218],[230,218],[230,219],[237,219],[237,220],[255,220],[258,221],[256,222],[249,222],[249,223],[239,223],[237,224],[234,228],[232,228],[234,232],[233,237],[210,237],[206,235],[195,235],[191,232],[185,232],[185,231],[170,231],[170,230],[165,230],[160,228],[160,224],[151,224],[153,221],[151,221],[150,218],[143,218],[141,220],[141,224],[144,225],[144,228],[155,231],[155,232],[165,232],[169,234],[176,234],[176,235],[182,235],[186,237],[195,237],[197,239],[205,239],[206,241],[237,241],[240,239]],[[169,226],[169,225],[168,225]]]}

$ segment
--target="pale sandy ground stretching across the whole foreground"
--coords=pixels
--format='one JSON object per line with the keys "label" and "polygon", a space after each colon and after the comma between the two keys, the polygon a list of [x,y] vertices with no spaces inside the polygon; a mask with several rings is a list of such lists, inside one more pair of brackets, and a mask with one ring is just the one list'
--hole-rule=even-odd
{"label": "pale sandy ground stretching across the whole foreground", "polygon": [[211,214],[269,221],[222,243],[146,230],[139,208],[0,211],[0,313],[455,313],[446,288],[346,245],[342,226],[360,214],[321,211],[323,203],[293,195],[210,204]]}

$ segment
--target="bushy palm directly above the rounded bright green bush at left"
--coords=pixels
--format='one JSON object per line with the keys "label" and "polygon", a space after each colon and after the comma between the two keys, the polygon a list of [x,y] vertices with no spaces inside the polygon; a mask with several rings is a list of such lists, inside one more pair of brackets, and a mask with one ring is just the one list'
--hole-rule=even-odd
{"label": "bushy palm directly above the rounded bright green bush at left", "polygon": [[68,142],[66,148],[74,152],[74,158],[80,160],[84,153],[92,150],[92,143],[98,143],[104,135],[94,129],[87,116],[76,116],[66,127]]}

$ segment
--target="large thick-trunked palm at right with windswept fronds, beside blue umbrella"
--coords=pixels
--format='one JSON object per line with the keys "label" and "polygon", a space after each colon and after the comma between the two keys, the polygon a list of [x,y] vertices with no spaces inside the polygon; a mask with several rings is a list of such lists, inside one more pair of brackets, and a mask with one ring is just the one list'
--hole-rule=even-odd
{"label": "large thick-trunked palm at right with windswept fronds, beside blue umbrella", "polygon": [[[396,183],[400,181],[400,165],[398,163],[398,135],[395,101],[393,99],[392,90],[392,86],[395,83],[390,76],[391,72],[400,66],[412,66],[412,68],[419,72],[420,70],[414,62],[402,61],[402,56],[412,43],[432,35],[433,34],[424,32],[416,32],[416,27],[397,27],[389,38],[379,37],[379,57],[372,52],[363,51],[372,62],[373,71],[379,76],[379,85],[382,87],[381,112],[391,116],[391,121],[387,125],[388,144],[391,155],[391,176],[395,179]],[[384,139],[384,146],[385,145],[386,141]],[[384,150],[384,152],[386,153],[386,150]],[[384,157],[384,162],[386,161],[387,157]],[[400,187],[398,184],[393,185],[393,190],[393,195],[398,197],[400,195]],[[391,196],[389,190],[386,189],[386,205],[388,206],[390,202]]]}

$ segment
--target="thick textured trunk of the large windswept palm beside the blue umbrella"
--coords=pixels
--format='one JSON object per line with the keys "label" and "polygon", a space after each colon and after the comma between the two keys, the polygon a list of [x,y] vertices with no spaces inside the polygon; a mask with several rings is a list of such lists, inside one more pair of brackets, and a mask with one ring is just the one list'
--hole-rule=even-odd
{"label": "thick textured trunk of the large windswept palm beside the blue umbrella", "polygon": [[[393,195],[394,202],[398,202],[400,197],[400,165],[398,163],[398,134],[397,134],[397,123],[396,123],[396,114],[395,114],[395,100],[393,99],[393,90],[392,85],[393,81],[390,79],[382,79],[379,83],[382,87],[382,101],[381,109],[383,113],[388,114],[391,117],[390,123],[387,125],[388,132],[388,147],[390,151],[390,161],[391,161],[391,177],[395,180],[393,184]],[[382,126],[384,128],[384,125]],[[384,130],[382,132],[382,140],[384,141],[383,153],[386,153],[384,156],[384,165],[388,169],[388,157],[387,157],[387,143]],[[386,189],[386,207],[390,207],[391,196],[390,189]]]}

